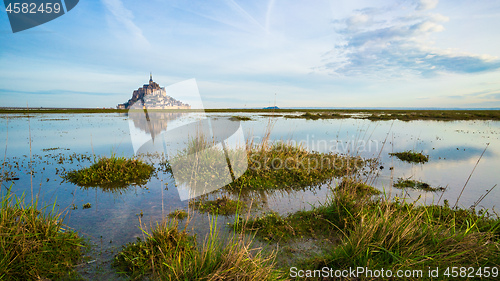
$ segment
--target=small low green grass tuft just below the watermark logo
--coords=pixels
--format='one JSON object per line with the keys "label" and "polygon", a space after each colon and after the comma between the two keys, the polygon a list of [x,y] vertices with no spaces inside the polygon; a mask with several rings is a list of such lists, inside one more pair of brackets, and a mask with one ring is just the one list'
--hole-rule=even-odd
{"label": "small low green grass tuft just below the watermark logo", "polygon": [[213,215],[230,216],[236,214],[246,205],[239,200],[232,200],[227,196],[218,197],[215,200],[203,200],[189,202],[189,205],[202,213],[209,213]]}

